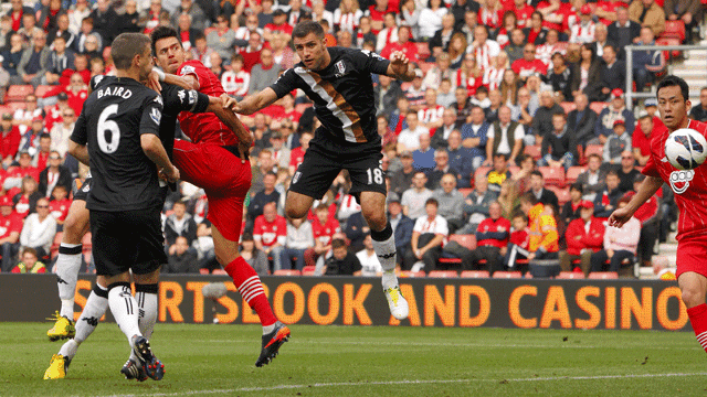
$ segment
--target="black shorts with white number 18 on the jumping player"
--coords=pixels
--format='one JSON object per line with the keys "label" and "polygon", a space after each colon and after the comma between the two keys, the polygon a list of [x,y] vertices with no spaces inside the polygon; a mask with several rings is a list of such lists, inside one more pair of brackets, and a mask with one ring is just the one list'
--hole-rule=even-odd
{"label": "black shorts with white number 18 on the jumping player", "polygon": [[360,192],[379,192],[386,195],[383,154],[379,151],[363,153],[334,153],[309,146],[302,164],[292,178],[289,190],[315,200],[321,198],[341,170],[351,178],[350,194],[359,200]]}

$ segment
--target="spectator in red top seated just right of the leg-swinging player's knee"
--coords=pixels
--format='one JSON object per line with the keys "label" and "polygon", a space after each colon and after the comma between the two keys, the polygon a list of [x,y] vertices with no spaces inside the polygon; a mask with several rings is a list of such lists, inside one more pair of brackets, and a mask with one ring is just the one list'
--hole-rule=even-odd
{"label": "spectator in red top seated just right of the leg-swinging player's knee", "polygon": [[283,268],[282,251],[287,240],[287,221],[277,215],[277,204],[263,206],[263,215],[255,218],[253,226],[255,247],[273,258],[273,270]]}

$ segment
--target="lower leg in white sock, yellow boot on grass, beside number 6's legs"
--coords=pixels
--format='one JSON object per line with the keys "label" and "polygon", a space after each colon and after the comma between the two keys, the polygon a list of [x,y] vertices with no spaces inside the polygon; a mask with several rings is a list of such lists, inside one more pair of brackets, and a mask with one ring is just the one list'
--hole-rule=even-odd
{"label": "lower leg in white sock, yellow boot on grass, beside number 6's legs", "polygon": [[98,326],[98,321],[108,309],[108,290],[101,286],[101,282],[104,281],[99,278],[86,300],[83,312],[78,316],[76,335],[74,339],[66,341],[59,350],[59,353],[52,356],[50,366],[44,372],[44,379],[64,378],[78,346]]}

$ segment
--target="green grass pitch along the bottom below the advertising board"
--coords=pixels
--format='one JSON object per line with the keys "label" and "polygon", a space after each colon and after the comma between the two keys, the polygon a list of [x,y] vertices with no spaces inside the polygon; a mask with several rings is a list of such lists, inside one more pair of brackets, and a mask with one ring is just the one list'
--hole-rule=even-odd
{"label": "green grass pitch along the bottom below the advertising board", "polygon": [[1,396],[697,396],[707,356],[692,333],[292,326],[263,368],[260,326],[157,324],[160,382],[126,380],[125,336],[102,324],[65,379],[43,380],[51,324],[0,324]]}

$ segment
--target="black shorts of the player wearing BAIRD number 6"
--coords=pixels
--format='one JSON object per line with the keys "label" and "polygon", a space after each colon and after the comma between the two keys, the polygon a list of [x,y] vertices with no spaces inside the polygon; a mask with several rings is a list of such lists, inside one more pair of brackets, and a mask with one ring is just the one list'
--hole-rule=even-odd
{"label": "black shorts of the player wearing BAIRD number 6", "polygon": [[93,258],[98,276],[117,276],[133,269],[146,275],[167,264],[160,212],[89,211]]}

